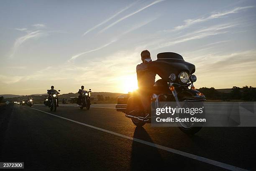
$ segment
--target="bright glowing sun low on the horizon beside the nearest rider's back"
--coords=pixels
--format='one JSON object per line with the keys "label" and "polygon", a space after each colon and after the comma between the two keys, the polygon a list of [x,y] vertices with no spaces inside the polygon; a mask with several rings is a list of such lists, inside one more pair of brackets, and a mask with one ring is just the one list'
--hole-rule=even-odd
{"label": "bright glowing sun low on the horizon beside the nearest rider's back", "polygon": [[138,89],[137,77],[136,75],[128,75],[123,77],[123,92],[133,92],[134,90]]}

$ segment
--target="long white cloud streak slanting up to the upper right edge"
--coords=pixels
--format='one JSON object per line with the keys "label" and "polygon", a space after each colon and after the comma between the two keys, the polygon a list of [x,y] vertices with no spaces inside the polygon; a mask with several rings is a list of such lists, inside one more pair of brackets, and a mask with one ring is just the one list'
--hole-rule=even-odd
{"label": "long white cloud streak slanting up to the upper right edge", "polygon": [[239,11],[246,10],[248,8],[254,8],[254,6],[237,7],[237,8],[234,8],[233,10],[219,12],[219,13],[213,13],[213,14],[209,15],[208,17],[202,17],[202,18],[196,18],[196,19],[187,19],[187,20],[184,20],[184,25],[177,26],[177,27],[174,28],[174,30],[181,30],[183,28],[187,28],[189,26],[192,26],[196,23],[202,23],[202,22],[212,20],[212,19],[215,19],[215,18],[221,18],[221,17],[224,17],[225,15],[238,13]]}

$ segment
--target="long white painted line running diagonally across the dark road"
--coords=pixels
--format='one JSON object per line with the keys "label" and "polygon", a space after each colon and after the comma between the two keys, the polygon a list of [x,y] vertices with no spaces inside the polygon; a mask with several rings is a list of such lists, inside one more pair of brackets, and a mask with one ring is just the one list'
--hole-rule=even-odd
{"label": "long white painted line running diagonally across the dark road", "polygon": [[[23,106],[23,107],[26,107],[26,106]],[[38,109],[35,109],[35,108],[31,108],[31,107],[27,107],[27,108],[33,109],[33,110],[38,110]],[[42,110],[38,110],[38,111],[44,112]],[[78,121],[75,121],[75,120],[72,120],[72,119],[68,119],[66,117],[61,117],[61,116],[58,116],[58,115],[54,115],[54,114],[51,114],[49,112],[44,112],[44,113],[52,115],[52,116],[59,117],[59,118],[64,119],[64,120],[71,121],[73,123],[78,123],[80,125],[84,125],[84,126],[96,129],[96,130],[100,130],[100,131],[103,131],[105,133],[110,133],[110,134],[113,134],[113,135],[116,135],[116,136],[119,136],[119,137],[122,137],[122,138],[126,138],[128,140],[133,140],[133,141],[136,141],[138,143],[142,143],[142,144],[149,145],[151,147],[159,148],[159,149],[164,150],[164,151],[169,151],[171,153],[175,153],[175,154],[178,154],[180,156],[185,156],[185,157],[188,157],[188,158],[195,159],[197,161],[202,161],[204,163],[208,163],[208,164],[211,164],[211,165],[214,165],[214,166],[225,168],[225,169],[228,169],[228,170],[231,170],[231,171],[248,171],[248,170],[246,170],[244,168],[239,168],[239,167],[232,166],[232,165],[229,165],[229,164],[226,164],[226,163],[221,163],[219,161],[215,161],[215,160],[212,160],[212,159],[209,159],[209,158],[197,156],[195,154],[187,153],[187,152],[184,152],[184,151],[175,150],[173,148],[165,147],[163,145],[158,145],[158,144],[150,143],[148,141],[144,141],[144,140],[141,140],[141,139],[138,139],[138,138],[129,137],[127,135],[123,135],[123,134],[120,134],[120,133],[115,133],[115,132],[110,131],[110,130],[105,130],[105,129],[98,128],[98,127],[95,127],[95,126],[92,126],[92,125],[88,125],[86,123],[80,123]]]}

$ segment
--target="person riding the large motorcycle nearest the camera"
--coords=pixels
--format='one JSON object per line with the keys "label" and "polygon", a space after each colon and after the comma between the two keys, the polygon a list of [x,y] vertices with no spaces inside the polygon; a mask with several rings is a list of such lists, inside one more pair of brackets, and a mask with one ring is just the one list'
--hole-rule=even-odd
{"label": "person riding the large motorcycle nearest the camera", "polygon": [[143,105],[145,114],[148,114],[148,110],[150,110],[150,90],[153,88],[155,83],[156,74],[148,70],[148,62],[145,61],[145,59],[150,59],[148,61],[151,61],[150,52],[148,50],[141,52],[142,63],[137,65],[136,72],[141,103]]}

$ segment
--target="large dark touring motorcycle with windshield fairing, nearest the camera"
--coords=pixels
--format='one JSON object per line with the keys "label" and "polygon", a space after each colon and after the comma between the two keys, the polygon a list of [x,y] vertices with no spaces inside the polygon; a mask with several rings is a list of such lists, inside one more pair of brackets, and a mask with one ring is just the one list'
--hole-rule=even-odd
{"label": "large dark touring motorcycle with windshield fairing, nearest the camera", "polygon": [[[157,105],[159,102],[202,102],[206,100],[205,95],[197,91],[193,84],[197,81],[197,77],[193,74],[195,65],[184,61],[181,55],[165,52],[157,54],[156,61],[145,60],[148,69],[161,77],[150,90],[150,99],[153,104]],[[141,100],[136,92],[118,97],[115,109],[125,113],[125,116],[131,118],[136,126],[150,123],[151,115],[145,116],[143,113]],[[186,125],[182,122],[178,123],[178,126],[186,134],[195,134],[202,128]]]}

